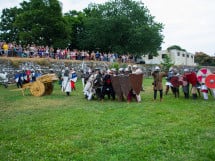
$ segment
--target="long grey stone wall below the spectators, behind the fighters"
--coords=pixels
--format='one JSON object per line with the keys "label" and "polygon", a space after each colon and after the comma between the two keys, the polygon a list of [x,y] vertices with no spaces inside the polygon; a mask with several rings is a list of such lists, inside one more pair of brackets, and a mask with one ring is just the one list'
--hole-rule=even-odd
{"label": "long grey stone wall below the spectators, behind the fighters", "polygon": [[[95,69],[100,68],[101,70],[108,69],[112,64],[104,61],[71,61],[71,60],[49,60],[49,59],[32,59],[32,58],[0,58],[0,73],[7,72],[9,83],[14,83],[14,75],[18,70],[33,69],[40,70],[42,74],[47,74],[53,71],[57,75],[65,68],[74,68],[78,76],[80,76],[81,70],[87,70],[88,68]],[[119,67],[126,67],[128,64],[118,63]],[[132,65],[132,64],[131,64]],[[145,65],[138,64],[143,70],[144,77],[151,76],[151,72],[154,70],[156,65]],[[178,71],[183,72],[185,66],[178,66]],[[190,70],[196,70],[196,67],[186,67]],[[215,67],[210,67],[212,71],[215,71]]]}

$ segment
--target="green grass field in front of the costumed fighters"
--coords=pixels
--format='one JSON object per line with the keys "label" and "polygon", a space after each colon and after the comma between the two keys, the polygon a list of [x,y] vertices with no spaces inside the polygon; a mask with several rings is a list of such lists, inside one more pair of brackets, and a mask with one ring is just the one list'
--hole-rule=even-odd
{"label": "green grass field in front of the costumed fighters", "polygon": [[142,102],[87,101],[81,83],[67,97],[0,86],[0,160],[214,161],[215,100],[152,100],[144,80]]}

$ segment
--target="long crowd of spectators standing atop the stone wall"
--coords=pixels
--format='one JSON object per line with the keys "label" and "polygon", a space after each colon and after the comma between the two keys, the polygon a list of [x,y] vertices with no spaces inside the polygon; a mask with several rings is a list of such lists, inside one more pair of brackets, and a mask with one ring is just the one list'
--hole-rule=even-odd
{"label": "long crowd of spectators standing atop the stone wall", "polygon": [[0,56],[5,57],[21,57],[21,58],[52,58],[52,59],[68,59],[68,60],[95,60],[122,63],[132,63],[132,55],[118,55],[116,53],[101,53],[99,51],[79,51],[66,49],[54,49],[49,46],[36,46],[28,44],[22,46],[16,43],[0,42]]}

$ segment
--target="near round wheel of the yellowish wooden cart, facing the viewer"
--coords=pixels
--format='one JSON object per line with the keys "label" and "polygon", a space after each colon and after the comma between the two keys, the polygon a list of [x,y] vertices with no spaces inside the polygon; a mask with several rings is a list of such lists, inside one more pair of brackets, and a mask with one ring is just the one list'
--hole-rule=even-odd
{"label": "near round wheel of the yellowish wooden cart, facing the viewer", "polygon": [[33,96],[40,97],[45,93],[45,85],[40,81],[33,82],[30,91]]}

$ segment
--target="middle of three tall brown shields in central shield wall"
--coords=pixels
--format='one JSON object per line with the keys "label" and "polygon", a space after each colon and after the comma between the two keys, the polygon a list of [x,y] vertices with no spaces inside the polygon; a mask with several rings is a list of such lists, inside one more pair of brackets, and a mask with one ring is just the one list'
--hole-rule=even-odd
{"label": "middle of three tall brown shields in central shield wall", "polygon": [[127,98],[129,91],[132,89],[128,75],[119,76],[119,82],[123,95]]}

